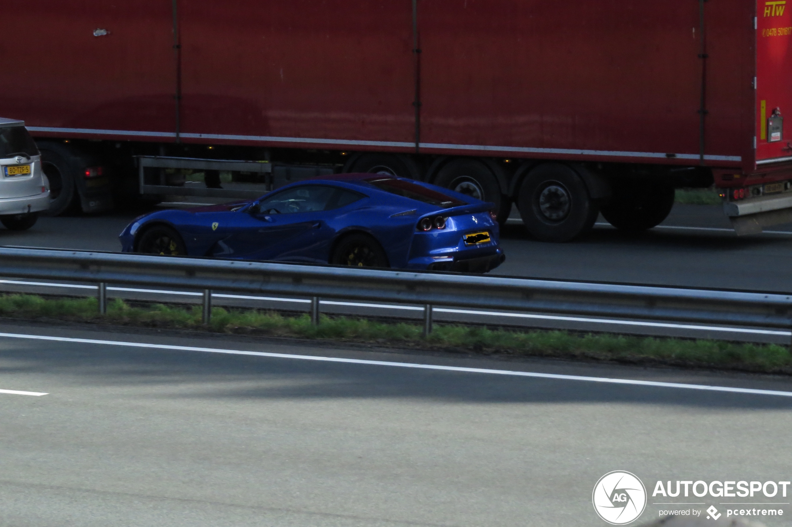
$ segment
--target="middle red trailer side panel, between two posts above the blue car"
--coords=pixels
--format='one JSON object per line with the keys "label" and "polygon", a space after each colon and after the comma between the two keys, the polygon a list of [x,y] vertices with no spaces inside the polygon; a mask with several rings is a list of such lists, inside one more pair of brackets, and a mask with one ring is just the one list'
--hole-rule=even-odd
{"label": "middle red trailer side panel, between two posts above the blue car", "polygon": [[180,10],[188,140],[413,144],[409,1],[228,0]]}

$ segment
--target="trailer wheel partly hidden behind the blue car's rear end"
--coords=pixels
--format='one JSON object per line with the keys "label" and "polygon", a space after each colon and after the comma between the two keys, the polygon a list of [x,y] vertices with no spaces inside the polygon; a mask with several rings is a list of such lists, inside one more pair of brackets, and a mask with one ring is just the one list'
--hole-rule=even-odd
{"label": "trailer wheel partly hidden behind the blue car's rear end", "polygon": [[492,170],[476,159],[455,159],[437,173],[434,183],[471,198],[495,203],[497,221],[503,223],[512,210],[508,197],[501,194],[501,185]]}

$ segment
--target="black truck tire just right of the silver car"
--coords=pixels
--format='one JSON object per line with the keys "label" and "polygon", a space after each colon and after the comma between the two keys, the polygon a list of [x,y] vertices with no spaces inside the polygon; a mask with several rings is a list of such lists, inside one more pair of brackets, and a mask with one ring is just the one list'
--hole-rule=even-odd
{"label": "black truck tire just right of the silver car", "polygon": [[50,184],[50,207],[42,214],[57,216],[76,211],[80,205],[76,180],[82,162],[67,147],[57,143],[44,142],[39,150],[41,168]]}

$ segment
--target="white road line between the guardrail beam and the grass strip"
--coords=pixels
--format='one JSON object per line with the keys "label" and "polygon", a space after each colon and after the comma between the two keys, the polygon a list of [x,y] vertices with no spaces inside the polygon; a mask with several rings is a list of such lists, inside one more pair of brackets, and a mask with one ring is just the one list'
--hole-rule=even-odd
{"label": "white road line between the guardrail beam and the grass strip", "polygon": [[[0,283],[10,283],[23,286],[49,286],[49,287],[75,287],[78,289],[93,289],[96,290],[97,286],[83,286],[79,284],[66,284],[66,283],[49,283],[49,282],[26,282],[22,280],[0,280]],[[169,291],[161,289],[138,289],[134,287],[108,287],[109,291],[127,291],[131,293],[154,293],[154,294],[173,294],[185,295],[191,297],[200,297],[203,293],[195,293],[192,291]],[[237,300],[261,300],[261,301],[277,301],[277,302],[295,302],[299,304],[310,304],[310,300],[303,298],[277,298],[277,297],[257,297],[244,294],[220,294],[212,293],[212,298],[232,298]],[[423,311],[424,308],[415,305],[387,305],[387,304],[367,304],[363,302],[343,302],[322,300],[319,301],[322,305],[345,305],[348,307],[365,307],[375,309],[402,309],[406,311]],[[562,317],[560,315],[535,315],[529,313],[500,313],[497,311],[475,311],[472,309],[448,309],[448,308],[433,308],[435,313],[456,313],[461,315],[484,315],[486,317],[512,317],[512,318],[526,318],[532,320],[557,320],[562,322],[588,322],[592,324],[617,324],[626,326],[642,326],[646,328],[671,328],[671,329],[692,329],[695,331],[707,332],[727,332],[727,333],[749,333],[754,335],[779,335],[779,336],[792,336],[792,332],[775,331],[771,329],[752,329],[752,328],[726,328],[722,326],[697,326],[694,324],[671,324],[668,322],[643,322],[640,320],[613,320],[604,318],[584,318],[584,317]]]}

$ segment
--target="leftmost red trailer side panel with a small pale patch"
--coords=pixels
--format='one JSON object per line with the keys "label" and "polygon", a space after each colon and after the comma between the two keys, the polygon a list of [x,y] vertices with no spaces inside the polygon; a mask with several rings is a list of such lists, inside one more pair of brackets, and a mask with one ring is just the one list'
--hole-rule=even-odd
{"label": "leftmost red trailer side panel with a small pale patch", "polygon": [[0,115],[34,131],[147,131],[173,140],[170,2],[8,0],[2,16],[34,33],[0,40]]}

